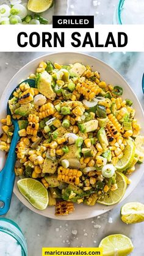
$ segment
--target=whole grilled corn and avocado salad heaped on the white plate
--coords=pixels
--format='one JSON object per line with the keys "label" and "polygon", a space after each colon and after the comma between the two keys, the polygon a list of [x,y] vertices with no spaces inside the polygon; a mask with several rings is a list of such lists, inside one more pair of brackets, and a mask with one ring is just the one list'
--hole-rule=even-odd
{"label": "whole grilled corn and avocado salad heaped on the white plate", "polygon": [[[35,88],[21,82],[9,100],[20,126],[15,174],[43,183],[57,216],[71,213],[73,203],[103,201],[118,189],[117,175],[130,175],[144,158],[132,101],[81,63],[41,62],[29,78]],[[10,115],[1,123],[0,149],[9,152]]]}

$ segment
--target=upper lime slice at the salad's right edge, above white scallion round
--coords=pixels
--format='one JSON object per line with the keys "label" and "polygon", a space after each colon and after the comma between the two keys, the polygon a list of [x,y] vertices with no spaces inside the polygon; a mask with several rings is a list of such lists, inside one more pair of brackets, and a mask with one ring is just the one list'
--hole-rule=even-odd
{"label": "upper lime slice at the salad's right edge, above white scallion round", "polygon": [[128,139],[127,145],[123,151],[123,158],[119,159],[118,163],[115,165],[117,170],[120,170],[122,172],[123,170],[128,169],[128,167],[131,166],[132,161],[134,160],[134,155],[135,155],[134,141],[132,141],[131,139]]}

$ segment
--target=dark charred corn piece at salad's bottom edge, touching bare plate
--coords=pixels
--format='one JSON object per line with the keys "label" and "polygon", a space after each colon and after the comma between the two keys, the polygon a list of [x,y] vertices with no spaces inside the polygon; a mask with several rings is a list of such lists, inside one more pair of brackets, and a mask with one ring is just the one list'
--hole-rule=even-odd
{"label": "dark charred corn piece at salad's bottom edge, touching bare plate", "polygon": [[74,205],[72,202],[57,202],[56,203],[56,210],[55,215],[56,216],[67,216],[70,213],[73,213],[74,211]]}

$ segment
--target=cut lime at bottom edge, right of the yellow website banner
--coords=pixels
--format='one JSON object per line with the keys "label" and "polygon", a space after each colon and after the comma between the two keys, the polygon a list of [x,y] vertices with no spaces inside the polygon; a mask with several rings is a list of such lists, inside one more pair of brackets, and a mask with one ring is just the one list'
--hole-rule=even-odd
{"label": "cut lime at bottom edge, right of the yellow website banner", "polygon": [[121,234],[106,236],[99,247],[103,248],[103,256],[126,256],[134,249],[132,241]]}

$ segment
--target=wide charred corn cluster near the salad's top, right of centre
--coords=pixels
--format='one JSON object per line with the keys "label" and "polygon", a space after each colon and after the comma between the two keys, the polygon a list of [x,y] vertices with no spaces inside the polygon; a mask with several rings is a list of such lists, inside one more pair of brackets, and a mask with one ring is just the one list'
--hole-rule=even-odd
{"label": "wide charred corn cluster near the salad's top, right of centre", "polygon": [[89,80],[85,80],[82,84],[77,83],[76,90],[84,95],[87,100],[92,100],[96,95],[98,95],[102,89],[95,83]]}

